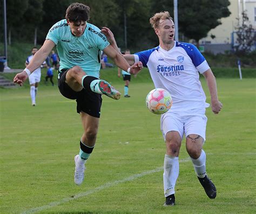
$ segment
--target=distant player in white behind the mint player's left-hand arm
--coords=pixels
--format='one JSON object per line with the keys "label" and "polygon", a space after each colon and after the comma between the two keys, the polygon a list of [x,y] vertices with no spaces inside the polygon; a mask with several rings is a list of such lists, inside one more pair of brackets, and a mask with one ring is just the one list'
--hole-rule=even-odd
{"label": "distant player in white behind the mint player's left-hand arm", "polygon": [[[31,53],[32,55],[28,56],[28,58],[26,58],[26,62],[25,62],[25,66],[28,66],[30,61],[32,60],[33,56],[35,55],[35,53],[37,52],[37,48],[33,47],[31,49]],[[46,66],[46,62],[44,61],[42,63],[43,66]],[[31,101],[32,101],[32,106],[36,106],[36,94],[37,94],[37,90],[38,90],[38,84],[41,80],[41,66],[39,66],[34,72],[33,74],[31,74],[29,76],[29,84],[30,84],[30,97],[31,97]]]}

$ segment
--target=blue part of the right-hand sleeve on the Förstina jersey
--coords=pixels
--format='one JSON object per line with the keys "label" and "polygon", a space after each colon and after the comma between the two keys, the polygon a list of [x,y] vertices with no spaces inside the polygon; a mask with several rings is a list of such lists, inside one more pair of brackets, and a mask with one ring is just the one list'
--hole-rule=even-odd
{"label": "blue part of the right-hand sleeve on the F\u00f6rstina jersey", "polygon": [[194,66],[199,66],[201,65],[202,62],[205,61],[204,56],[200,53],[200,51],[198,50],[198,48],[196,46],[194,46],[193,44],[190,43],[183,43],[182,46],[187,53],[188,56],[190,56]]}

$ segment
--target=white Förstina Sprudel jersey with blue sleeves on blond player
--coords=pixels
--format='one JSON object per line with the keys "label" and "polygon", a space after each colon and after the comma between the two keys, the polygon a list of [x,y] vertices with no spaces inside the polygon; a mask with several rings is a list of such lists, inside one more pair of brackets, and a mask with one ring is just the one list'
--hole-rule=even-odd
{"label": "white F\u00f6rstina Sprudel jersey with blue sleeves on blond player", "polygon": [[[134,54],[135,61],[148,67],[154,86],[170,92],[173,104],[170,111],[207,108],[206,96],[199,73],[210,67],[197,47],[176,42],[166,51],[160,46]],[[199,72],[199,73],[198,73]]]}

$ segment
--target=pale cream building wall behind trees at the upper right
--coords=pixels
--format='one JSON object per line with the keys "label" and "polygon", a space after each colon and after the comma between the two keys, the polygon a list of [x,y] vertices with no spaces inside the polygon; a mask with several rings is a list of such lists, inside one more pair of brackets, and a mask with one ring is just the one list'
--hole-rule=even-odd
{"label": "pale cream building wall behind trees at the upper right", "polygon": [[[230,44],[231,33],[235,31],[235,26],[238,25],[239,11],[242,12],[244,6],[245,10],[247,10],[247,16],[249,18],[250,23],[256,29],[256,1],[230,0],[230,3],[231,4],[230,6],[228,6],[228,9],[230,10],[231,15],[226,18],[221,18],[220,22],[222,24],[208,32],[208,36],[199,41],[200,44]],[[211,38],[211,34],[215,35],[214,39]]]}

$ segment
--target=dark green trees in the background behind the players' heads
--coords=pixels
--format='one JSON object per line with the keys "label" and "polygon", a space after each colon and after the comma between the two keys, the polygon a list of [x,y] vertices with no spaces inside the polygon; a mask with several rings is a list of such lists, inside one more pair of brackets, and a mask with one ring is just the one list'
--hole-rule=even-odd
{"label": "dark green trees in the background behind the players' heads", "polygon": [[[65,17],[73,2],[90,6],[90,20],[96,26],[109,27],[122,48],[140,49],[158,45],[149,23],[156,12],[169,11],[173,17],[172,0],[7,0],[8,43],[35,42],[42,45],[50,27]],[[230,16],[228,0],[182,0],[178,2],[179,36],[196,43],[216,26],[220,18]],[[3,17],[3,4],[0,5]],[[174,20],[175,22],[175,20]],[[0,38],[3,22],[0,23]],[[126,36],[125,36],[126,32]]]}

